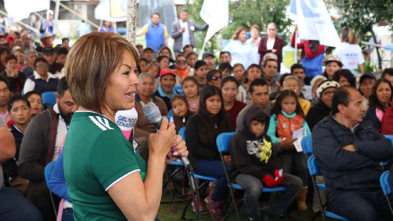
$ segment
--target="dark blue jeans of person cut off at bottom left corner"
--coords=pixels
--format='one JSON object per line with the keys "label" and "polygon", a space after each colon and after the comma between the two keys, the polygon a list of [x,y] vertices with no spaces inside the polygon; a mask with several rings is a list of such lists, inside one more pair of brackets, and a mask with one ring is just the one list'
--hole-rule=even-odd
{"label": "dark blue jeans of person cut off at bottom left corner", "polygon": [[40,211],[21,193],[12,187],[0,189],[1,221],[42,221]]}

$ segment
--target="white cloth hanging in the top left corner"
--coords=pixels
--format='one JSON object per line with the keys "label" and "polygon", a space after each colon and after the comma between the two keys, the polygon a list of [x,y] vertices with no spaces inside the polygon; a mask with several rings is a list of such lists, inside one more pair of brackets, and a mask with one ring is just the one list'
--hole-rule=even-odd
{"label": "white cloth hanging in the top left corner", "polygon": [[8,18],[14,22],[28,18],[31,12],[48,10],[49,5],[49,0],[4,0]]}

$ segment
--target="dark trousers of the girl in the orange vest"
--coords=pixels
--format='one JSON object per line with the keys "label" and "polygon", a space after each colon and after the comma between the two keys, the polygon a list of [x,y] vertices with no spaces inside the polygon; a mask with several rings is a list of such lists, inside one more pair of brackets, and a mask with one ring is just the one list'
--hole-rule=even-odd
{"label": "dark trousers of the girl in the orange vest", "polygon": [[[309,169],[303,152],[284,150],[279,155],[282,159],[284,173],[296,174],[303,181],[303,187],[307,187]],[[295,173],[296,172],[296,173]]]}

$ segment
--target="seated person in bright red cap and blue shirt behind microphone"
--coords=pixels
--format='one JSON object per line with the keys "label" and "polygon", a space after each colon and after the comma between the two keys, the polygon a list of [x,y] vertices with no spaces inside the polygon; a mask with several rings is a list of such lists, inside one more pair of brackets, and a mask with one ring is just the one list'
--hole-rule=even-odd
{"label": "seated person in bright red cap and blue shirt behind microphone", "polygon": [[179,94],[173,87],[176,83],[176,73],[170,68],[164,68],[160,72],[160,87],[154,95],[164,100],[168,110],[171,110],[170,99]]}

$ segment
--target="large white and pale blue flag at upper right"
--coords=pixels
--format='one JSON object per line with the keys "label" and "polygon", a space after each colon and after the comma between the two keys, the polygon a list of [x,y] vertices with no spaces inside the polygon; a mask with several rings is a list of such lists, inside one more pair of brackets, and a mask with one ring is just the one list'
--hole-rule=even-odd
{"label": "large white and pale blue flag at upper right", "polygon": [[291,0],[290,18],[298,25],[299,38],[319,40],[326,46],[340,43],[337,30],[323,0]]}

